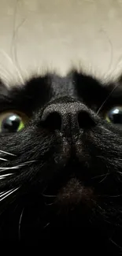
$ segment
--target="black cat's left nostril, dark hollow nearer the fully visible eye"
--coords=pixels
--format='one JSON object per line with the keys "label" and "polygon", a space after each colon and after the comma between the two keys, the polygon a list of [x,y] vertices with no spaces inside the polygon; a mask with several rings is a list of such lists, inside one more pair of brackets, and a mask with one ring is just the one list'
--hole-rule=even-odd
{"label": "black cat's left nostril, dark hollow nearer the fully visible eye", "polygon": [[49,128],[51,131],[61,130],[61,115],[60,113],[53,112],[49,113],[43,121],[43,126]]}

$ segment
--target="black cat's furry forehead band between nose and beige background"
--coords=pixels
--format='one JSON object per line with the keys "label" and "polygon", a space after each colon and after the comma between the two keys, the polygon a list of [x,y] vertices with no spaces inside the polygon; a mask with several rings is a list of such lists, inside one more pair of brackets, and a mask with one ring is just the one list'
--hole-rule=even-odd
{"label": "black cat's furry forehead band between nose and beige background", "polygon": [[[17,84],[14,87],[8,88],[0,83],[0,106],[1,109],[20,109],[31,113],[54,99],[68,96],[84,102],[87,106],[99,107],[114,86],[113,83],[104,84],[92,76],[76,71],[63,77],[55,73],[47,73],[45,76],[33,76],[24,84]],[[120,89],[114,91],[109,99],[112,98],[114,101],[115,92],[116,102],[112,104],[118,103],[118,97],[121,103]]]}

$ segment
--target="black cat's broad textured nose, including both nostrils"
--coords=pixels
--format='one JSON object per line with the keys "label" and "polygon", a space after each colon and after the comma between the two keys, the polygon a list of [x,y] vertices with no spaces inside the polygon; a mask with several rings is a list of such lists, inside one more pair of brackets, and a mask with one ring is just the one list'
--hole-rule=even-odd
{"label": "black cat's broad textured nose, including both nostrils", "polygon": [[43,110],[42,122],[45,128],[58,130],[66,136],[95,124],[94,114],[81,102],[55,102]]}

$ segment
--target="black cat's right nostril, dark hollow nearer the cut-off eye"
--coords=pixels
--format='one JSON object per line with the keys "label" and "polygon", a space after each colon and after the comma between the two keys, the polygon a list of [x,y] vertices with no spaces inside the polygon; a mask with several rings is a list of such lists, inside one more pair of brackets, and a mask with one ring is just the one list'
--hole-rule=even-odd
{"label": "black cat's right nostril, dark hollow nearer the cut-off eye", "polygon": [[87,111],[80,111],[77,116],[79,128],[91,128],[95,125],[94,119]]}

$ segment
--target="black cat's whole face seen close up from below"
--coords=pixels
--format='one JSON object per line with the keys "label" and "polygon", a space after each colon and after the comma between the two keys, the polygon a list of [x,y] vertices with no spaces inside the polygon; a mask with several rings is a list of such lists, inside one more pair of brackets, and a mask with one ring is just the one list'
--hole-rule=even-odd
{"label": "black cat's whole face seen close up from below", "polygon": [[122,92],[113,89],[77,72],[0,84],[1,240],[68,237],[120,252]]}

